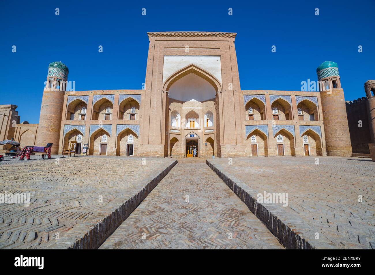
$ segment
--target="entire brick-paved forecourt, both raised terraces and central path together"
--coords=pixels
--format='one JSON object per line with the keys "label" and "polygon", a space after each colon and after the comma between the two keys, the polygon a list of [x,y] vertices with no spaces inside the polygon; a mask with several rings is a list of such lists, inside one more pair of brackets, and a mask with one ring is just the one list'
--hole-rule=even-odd
{"label": "entire brick-paved forecourt, both raised terraces and central path together", "polygon": [[[31,199],[0,204],[0,248],[288,248],[203,159],[57,157],[0,163],[0,193]],[[273,214],[315,248],[375,247],[369,159],[208,162],[255,198],[287,193]]]}

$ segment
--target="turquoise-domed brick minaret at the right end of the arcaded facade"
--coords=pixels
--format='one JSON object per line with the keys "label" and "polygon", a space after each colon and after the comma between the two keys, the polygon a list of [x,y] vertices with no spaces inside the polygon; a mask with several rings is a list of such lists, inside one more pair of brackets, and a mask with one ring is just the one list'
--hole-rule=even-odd
{"label": "turquoise-domed brick minaret at the right end of the arcaded facade", "polygon": [[351,156],[348,117],[338,65],[333,61],[324,61],[317,68],[317,74],[320,83],[327,155]]}

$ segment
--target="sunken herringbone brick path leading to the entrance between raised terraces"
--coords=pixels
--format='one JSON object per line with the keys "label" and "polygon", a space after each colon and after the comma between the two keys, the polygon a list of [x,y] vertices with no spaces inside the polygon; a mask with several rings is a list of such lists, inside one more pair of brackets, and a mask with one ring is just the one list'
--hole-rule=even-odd
{"label": "sunken herringbone brick path leading to the entrance between raised terraces", "polygon": [[284,247],[203,162],[174,166],[100,248]]}

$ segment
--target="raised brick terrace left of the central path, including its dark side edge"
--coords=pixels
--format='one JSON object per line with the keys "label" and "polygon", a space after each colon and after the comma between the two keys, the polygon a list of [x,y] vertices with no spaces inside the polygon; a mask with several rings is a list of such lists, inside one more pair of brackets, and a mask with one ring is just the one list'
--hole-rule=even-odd
{"label": "raised brick terrace left of the central path, including its dark side edge", "polygon": [[29,207],[0,205],[0,248],[96,248],[176,163],[92,156],[58,161],[0,163],[0,193],[31,197]]}

